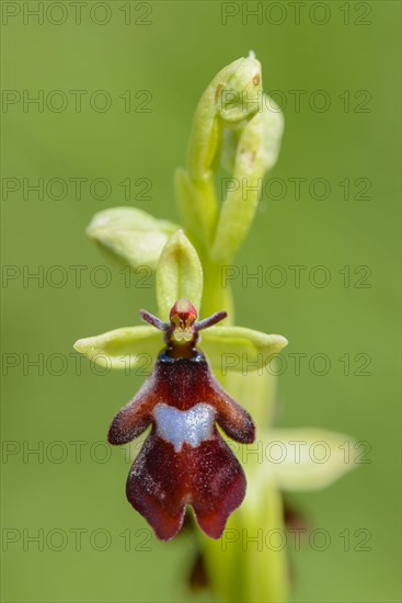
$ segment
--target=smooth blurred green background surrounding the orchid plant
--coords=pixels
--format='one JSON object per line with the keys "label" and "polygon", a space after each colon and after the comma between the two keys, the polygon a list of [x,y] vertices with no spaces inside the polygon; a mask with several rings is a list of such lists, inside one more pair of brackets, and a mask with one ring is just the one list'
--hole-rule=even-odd
{"label": "smooth blurred green background surrounding the orchid plant", "polygon": [[[2,600],[189,599],[192,538],[148,538],[125,499],[124,452],[104,444],[112,417],[143,377],[96,375],[84,359],[79,369],[70,354],[78,338],[137,323],[140,307],[156,310],[152,287],[141,275],[125,286],[85,226],[96,211],[118,205],[179,219],[172,174],[185,162],[198,98],[219,69],[252,48],[264,90],[287,101],[286,132],[268,175],[278,180],[264,194],[238,265],[264,274],[283,266],[286,282],[237,278],[237,322],[289,339],[278,424],[318,425],[370,446],[370,463],[326,490],[292,497],[331,538],[326,550],[307,544],[291,553],[292,598],[400,601],[400,3],[307,2],[298,22],[291,2],[89,1],[80,24],[71,3],[59,4],[45,2],[39,23],[30,13],[37,2],[2,2]],[[81,112],[71,90],[88,91]],[[93,94],[99,90],[106,96]],[[326,111],[319,111],[319,90],[330,99]],[[42,93],[43,111],[24,106],[24,95]],[[101,112],[104,99],[112,105]],[[54,182],[46,192],[55,178],[67,191]],[[81,198],[69,180],[78,178],[87,179]],[[100,178],[111,189],[105,195]],[[141,195],[143,178],[151,189]],[[306,179],[299,200],[295,178]],[[24,190],[37,179],[43,198]],[[119,184],[126,179],[130,198]],[[329,184],[326,198],[318,198],[314,179]],[[288,268],[296,264],[307,266],[299,287]],[[78,286],[71,266],[80,265],[87,268]],[[309,280],[318,265],[326,266],[328,286]],[[35,272],[39,280],[28,280]],[[105,277],[111,282],[102,286]],[[307,354],[300,375],[288,356],[297,352]],[[323,376],[308,367],[317,353],[331,361]],[[338,360],[345,354],[349,375]],[[359,375],[361,357],[369,375]],[[35,360],[39,367],[28,364]],[[30,454],[34,448],[39,453]],[[360,528],[369,550],[358,550]],[[345,530],[349,550],[340,536]],[[35,535],[39,542],[30,541]]]}

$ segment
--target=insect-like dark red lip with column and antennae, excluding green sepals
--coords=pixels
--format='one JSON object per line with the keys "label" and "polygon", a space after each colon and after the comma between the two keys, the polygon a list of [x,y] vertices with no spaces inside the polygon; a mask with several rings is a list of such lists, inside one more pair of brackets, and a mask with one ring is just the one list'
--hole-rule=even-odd
{"label": "insect-like dark red lip with column and antennae, excluding green sepals", "polygon": [[197,311],[177,300],[170,322],[141,310],[142,320],[164,332],[151,375],[124,407],[108,431],[111,444],[126,444],[152,425],[127,480],[127,498],[163,541],[173,538],[191,504],[198,525],[219,538],[230,513],[245,494],[240,463],[219,434],[240,443],[254,441],[254,423],[214,377],[198,333],[226,312],[197,322]]}

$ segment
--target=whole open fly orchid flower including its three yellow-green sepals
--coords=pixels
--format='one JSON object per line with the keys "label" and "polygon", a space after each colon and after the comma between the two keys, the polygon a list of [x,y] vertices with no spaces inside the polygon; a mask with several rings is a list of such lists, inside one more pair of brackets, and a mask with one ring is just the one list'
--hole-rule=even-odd
{"label": "whole open fly orchid flower including its three yellow-green sepals", "polygon": [[[245,496],[243,469],[218,426],[231,440],[251,444],[254,423],[219,385],[211,367],[219,371],[226,353],[246,354],[254,366],[256,357],[273,357],[287,344],[282,335],[217,326],[227,318],[226,311],[198,321],[202,294],[199,258],[177,230],[158,262],[162,319],[141,310],[147,326],[115,329],[74,345],[93,362],[115,368],[127,368],[127,362],[136,366],[143,350],[152,354],[151,374],[114,418],[108,441],[126,444],[151,428],[133,464],[126,493],[162,541],[180,532],[186,504],[199,527],[219,538]],[[200,331],[206,354],[197,346]]]}

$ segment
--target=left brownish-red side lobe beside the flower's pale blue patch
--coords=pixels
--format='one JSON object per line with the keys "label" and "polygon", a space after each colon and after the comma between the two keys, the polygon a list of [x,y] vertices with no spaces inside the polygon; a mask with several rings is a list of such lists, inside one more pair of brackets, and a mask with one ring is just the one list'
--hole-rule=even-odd
{"label": "left brownish-red side lobe beside the flower's pale blue patch", "polygon": [[153,375],[142,385],[137,396],[113,419],[107,440],[111,444],[126,444],[140,435],[152,421],[152,409],[157,403]]}

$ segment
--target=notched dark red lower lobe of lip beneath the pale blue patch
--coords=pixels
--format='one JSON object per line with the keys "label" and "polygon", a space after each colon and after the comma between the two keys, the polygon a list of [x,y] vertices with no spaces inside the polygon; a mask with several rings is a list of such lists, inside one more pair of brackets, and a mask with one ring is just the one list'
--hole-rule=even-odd
{"label": "notched dark red lower lobe of lip beneath the pale blue patch", "polygon": [[127,498],[153,527],[170,541],[181,530],[185,504],[198,525],[219,538],[230,513],[245,494],[243,470],[217,430],[210,440],[175,452],[156,430],[136,458],[127,480]]}

